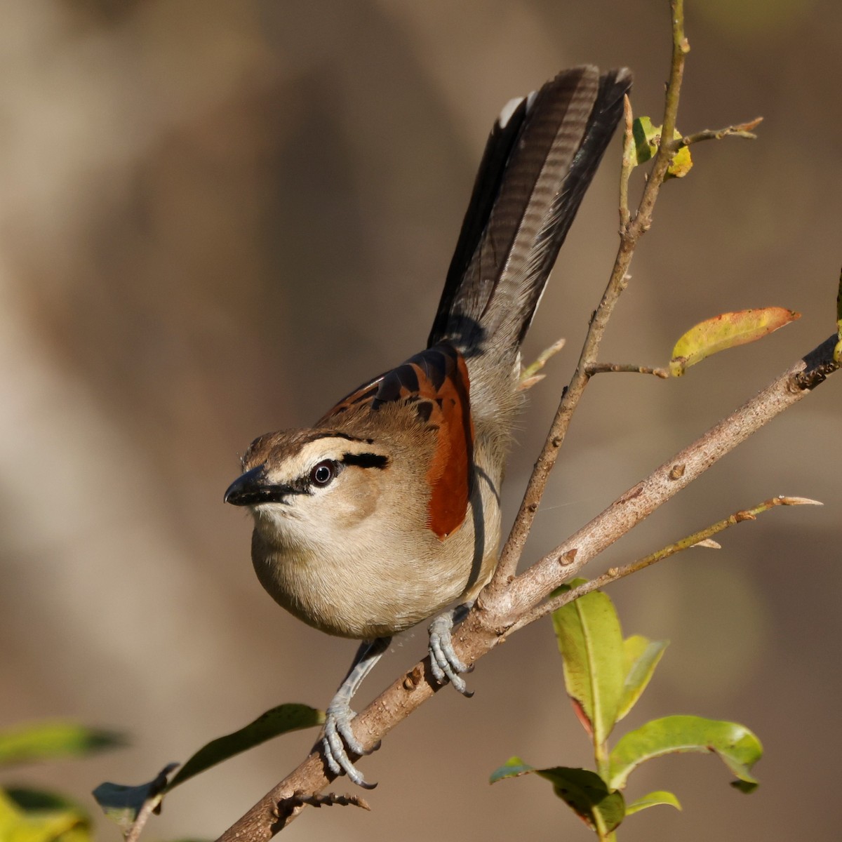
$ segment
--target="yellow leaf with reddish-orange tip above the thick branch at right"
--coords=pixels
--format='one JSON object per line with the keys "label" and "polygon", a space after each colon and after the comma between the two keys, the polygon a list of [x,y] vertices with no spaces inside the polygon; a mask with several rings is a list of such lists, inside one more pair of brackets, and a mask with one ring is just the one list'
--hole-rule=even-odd
{"label": "yellow leaf with reddish-orange tip above the thick branch at right", "polygon": [[720,313],[690,328],[675,343],[669,373],[679,377],[690,365],[727,348],[736,348],[763,338],[784,325],[801,318],[801,313],[784,307],[761,307],[754,310]]}

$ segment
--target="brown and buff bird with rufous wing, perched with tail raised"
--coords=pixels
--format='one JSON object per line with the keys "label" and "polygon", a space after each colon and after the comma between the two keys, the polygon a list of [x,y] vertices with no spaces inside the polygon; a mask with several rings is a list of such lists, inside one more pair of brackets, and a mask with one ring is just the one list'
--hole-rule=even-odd
{"label": "brown and buff bird with rufous wing, perched with tail raised", "polygon": [[[351,699],[399,632],[434,618],[434,679],[471,695],[454,625],[498,559],[500,486],[525,397],[520,345],[623,113],[627,68],[559,72],[488,137],[427,347],[307,429],[264,434],[225,502],[253,515],[260,584],[322,632],[360,641],[320,738],[365,788]],[[452,607],[451,607],[452,606]]]}

